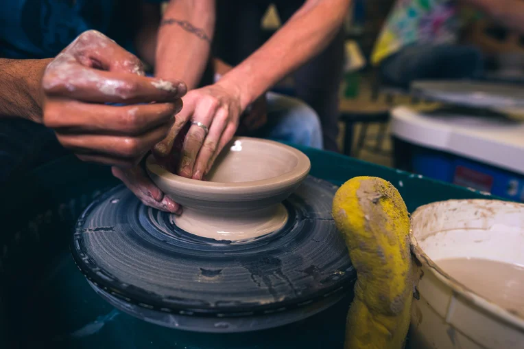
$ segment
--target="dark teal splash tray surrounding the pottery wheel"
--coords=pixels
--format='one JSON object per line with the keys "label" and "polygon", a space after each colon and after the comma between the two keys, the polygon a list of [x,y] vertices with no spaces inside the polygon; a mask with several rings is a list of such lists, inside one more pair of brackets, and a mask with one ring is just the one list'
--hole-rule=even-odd
{"label": "dark teal splash tray surrounding the pottery wheel", "polygon": [[[409,212],[446,199],[486,195],[407,172],[309,148],[311,175],[341,185],[381,177]],[[69,255],[76,218],[119,181],[109,168],[64,157],[1,189],[0,348],[342,348],[346,299],[296,324],[255,333],[209,335],[156,326],[121,313],[88,286]]]}

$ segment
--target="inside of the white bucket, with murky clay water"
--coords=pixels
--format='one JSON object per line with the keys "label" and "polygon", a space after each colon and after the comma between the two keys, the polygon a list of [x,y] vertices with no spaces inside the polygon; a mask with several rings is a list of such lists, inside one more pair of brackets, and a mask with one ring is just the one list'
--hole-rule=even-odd
{"label": "inside of the white bucket, with murky clay water", "polygon": [[446,280],[524,318],[524,205],[496,200],[433,203],[412,216],[415,251]]}

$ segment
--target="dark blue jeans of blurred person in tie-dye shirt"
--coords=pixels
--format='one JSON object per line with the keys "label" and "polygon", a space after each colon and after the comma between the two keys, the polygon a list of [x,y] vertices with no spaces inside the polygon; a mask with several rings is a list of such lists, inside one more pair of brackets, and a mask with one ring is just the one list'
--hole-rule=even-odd
{"label": "dark blue jeans of blurred person in tie-dye shirt", "polygon": [[481,76],[484,59],[476,47],[451,44],[414,44],[385,58],[381,82],[409,89],[415,80],[466,79]]}

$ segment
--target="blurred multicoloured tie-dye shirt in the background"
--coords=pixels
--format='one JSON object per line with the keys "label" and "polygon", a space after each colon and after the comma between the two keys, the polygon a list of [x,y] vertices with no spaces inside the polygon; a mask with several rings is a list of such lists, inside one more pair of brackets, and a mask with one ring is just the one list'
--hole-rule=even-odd
{"label": "blurred multicoloured tie-dye shirt in the background", "polygon": [[459,30],[453,0],[397,0],[377,38],[372,64],[414,43],[455,43]]}

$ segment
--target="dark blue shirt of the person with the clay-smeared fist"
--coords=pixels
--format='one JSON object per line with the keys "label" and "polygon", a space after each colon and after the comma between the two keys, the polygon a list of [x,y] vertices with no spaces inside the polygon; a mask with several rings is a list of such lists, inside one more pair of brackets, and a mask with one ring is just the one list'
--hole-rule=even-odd
{"label": "dark blue shirt of the person with the clay-smeared fist", "polygon": [[[91,29],[134,52],[140,1],[0,0],[0,58],[51,58]],[[43,125],[0,117],[0,184],[64,153]]]}

